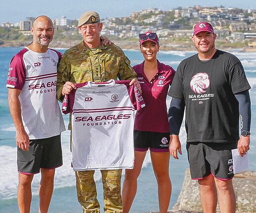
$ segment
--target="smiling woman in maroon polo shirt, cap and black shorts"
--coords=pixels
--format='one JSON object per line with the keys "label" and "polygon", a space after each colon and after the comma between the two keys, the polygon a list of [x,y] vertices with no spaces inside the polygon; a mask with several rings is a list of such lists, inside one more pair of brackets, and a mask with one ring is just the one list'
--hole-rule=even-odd
{"label": "smiling woman in maroon polo shirt, cap and black shorts", "polygon": [[146,107],[137,112],[135,117],[135,165],[132,170],[127,169],[125,173],[122,191],[123,213],[129,212],[136,195],[137,178],[148,149],[158,184],[160,213],[166,213],[171,199],[170,128],[166,97],[175,71],[157,60],[160,45],[156,33],[140,34],[139,45],[145,60],[133,69],[137,73]]}

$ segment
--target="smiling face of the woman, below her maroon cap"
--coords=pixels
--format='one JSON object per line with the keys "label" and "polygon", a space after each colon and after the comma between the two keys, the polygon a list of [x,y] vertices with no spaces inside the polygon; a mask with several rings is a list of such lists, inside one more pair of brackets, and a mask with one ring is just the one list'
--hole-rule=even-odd
{"label": "smiling face of the woman, below her maroon cap", "polygon": [[156,44],[153,41],[145,41],[140,45],[140,52],[145,60],[152,61],[157,59],[159,48],[159,44]]}

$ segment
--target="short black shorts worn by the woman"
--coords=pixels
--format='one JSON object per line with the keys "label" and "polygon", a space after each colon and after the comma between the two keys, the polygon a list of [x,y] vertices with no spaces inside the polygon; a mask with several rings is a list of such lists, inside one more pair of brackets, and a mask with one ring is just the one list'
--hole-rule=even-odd
{"label": "short black shorts worn by the woman", "polygon": [[133,131],[134,150],[153,152],[169,152],[170,133]]}

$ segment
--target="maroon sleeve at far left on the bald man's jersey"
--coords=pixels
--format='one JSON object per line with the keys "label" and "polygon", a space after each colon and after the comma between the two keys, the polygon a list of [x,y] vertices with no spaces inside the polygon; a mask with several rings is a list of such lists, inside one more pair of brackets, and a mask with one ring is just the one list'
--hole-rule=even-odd
{"label": "maroon sleeve at far left on the bald man's jersey", "polygon": [[6,86],[12,85],[13,88],[22,90],[26,79],[26,67],[23,56],[29,50],[24,48],[11,59]]}

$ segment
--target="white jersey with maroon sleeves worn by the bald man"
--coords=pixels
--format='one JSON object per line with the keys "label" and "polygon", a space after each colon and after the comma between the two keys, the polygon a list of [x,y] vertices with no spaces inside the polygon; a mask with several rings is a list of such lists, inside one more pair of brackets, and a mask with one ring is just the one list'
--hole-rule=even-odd
{"label": "white jersey with maroon sleeves worn by the bald man", "polygon": [[65,131],[56,99],[57,64],[61,53],[47,49],[34,52],[27,47],[10,63],[6,87],[21,90],[19,100],[29,139],[45,139]]}

